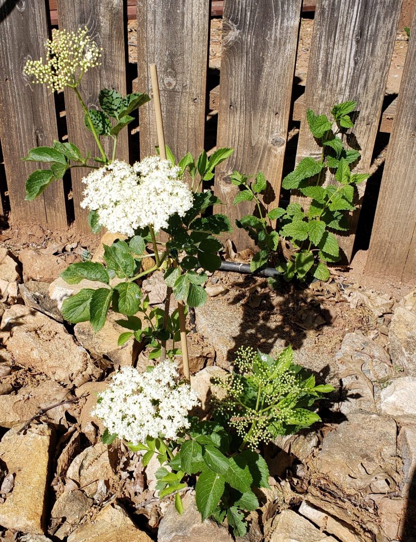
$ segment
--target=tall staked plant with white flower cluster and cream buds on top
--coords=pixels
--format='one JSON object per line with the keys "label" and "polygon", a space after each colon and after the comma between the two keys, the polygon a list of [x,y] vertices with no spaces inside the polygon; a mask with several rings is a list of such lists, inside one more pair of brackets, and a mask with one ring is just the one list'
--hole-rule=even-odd
{"label": "tall staked plant with white flower cluster and cream buds on top", "polygon": [[[133,337],[148,344],[150,358],[156,358],[162,352],[162,343],[172,339],[173,349],[168,354],[173,356],[180,353],[175,348],[180,336],[179,312],[169,315],[150,307],[149,299],[142,295],[140,281],[160,269],[177,300],[190,307],[203,305],[206,271],[213,272],[221,264],[218,252],[222,244],[215,235],[230,231],[231,226],[224,215],[201,217],[207,208],[220,202],[212,191],[200,189],[233,150],[217,149],[209,158],[202,151],[196,162],[187,153],[177,165],[168,147],[167,160],[147,157],[133,166],[117,160],[118,135],[134,120],[130,114],[149,101],[149,96],[132,93],[123,97],[114,89],[104,88],[98,95],[101,109],[88,109],[80,92],[82,78],[101,62],[101,49],[91,40],[88,29],[77,33],[54,30],[46,48],[45,62],[28,61],[25,73],[32,77],[32,82],[44,83],[52,92],[65,87],[75,92],[84,111],[85,127],[93,133],[100,156],[91,158],[90,152],[84,156],[74,143],[61,141],[55,141],[52,147],[31,149],[24,160],[41,162],[48,169],[39,169],[29,176],[26,199],[38,197],[52,181],[62,179],[68,169],[82,167],[90,170],[83,178],[81,206],[89,209],[91,230],[98,233],[105,227],[121,234],[111,246],[104,246],[104,264],[74,263],[61,274],[69,284],[83,279],[98,282],[98,288],[83,288],[66,299],[63,317],[74,324],[90,321],[97,332],[112,308],[125,317],[118,320],[127,330],[120,335],[119,345]],[[110,157],[102,146],[103,137],[113,140]],[[184,178],[188,175],[190,186]],[[165,242],[156,241],[161,230],[167,234]],[[151,254],[148,244],[153,246]],[[155,264],[145,269],[142,262],[149,256]]]}

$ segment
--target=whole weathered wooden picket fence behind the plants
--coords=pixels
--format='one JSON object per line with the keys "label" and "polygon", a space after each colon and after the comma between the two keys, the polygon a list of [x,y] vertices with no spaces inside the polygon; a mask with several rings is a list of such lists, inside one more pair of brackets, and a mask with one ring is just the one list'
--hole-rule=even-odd
{"label": "whole weathered wooden picket fence behind the plants", "polygon": [[[303,3],[304,9],[315,4]],[[77,228],[87,228],[79,205],[81,170],[72,170],[64,183],[52,184],[42,197],[29,203],[24,201],[24,182],[37,165],[21,161],[31,147],[50,145],[58,138],[69,137],[83,150],[94,149],[71,93],[54,97],[42,86],[29,83],[22,71],[28,58],[43,54],[51,22],[71,30],[87,24],[103,47],[102,66],[91,70],[82,83],[88,106],[97,104],[101,87],[114,87],[121,93],[131,89],[151,93],[148,64],[155,62],[166,139],[177,157],[203,149],[209,131],[207,113],[217,109],[216,144],[232,146],[235,152],[217,168],[214,189],[232,221],[252,210],[249,203],[239,208],[232,205],[236,189],[229,175],[234,169],[249,175],[260,170],[265,173],[270,183],[267,207],[280,196],[291,122],[300,121],[295,151],[299,162],[318,153],[307,130],[306,109],[326,113],[336,102],[356,100],[359,115],[354,134],[362,149],[359,171],[371,166],[377,134],[392,130],[367,271],[415,278],[416,33],[411,34],[398,99],[388,108],[384,106],[400,7],[401,0],[317,0],[306,88],[299,98],[293,74],[302,0],[49,0],[49,4],[1,0],[3,202],[7,195],[16,220],[50,227],[67,227],[75,220]],[[215,87],[209,78],[207,82],[209,28],[210,16],[221,11],[220,86]],[[135,14],[137,78],[127,57],[127,19]],[[149,102],[140,110],[141,156],[154,152],[153,118]],[[139,158],[137,136],[123,135],[118,156]],[[364,190],[360,185],[360,205]],[[351,234],[339,238],[347,260],[353,254],[358,217],[359,210],[350,217]],[[237,246],[242,246],[241,232],[236,230],[233,235]]]}

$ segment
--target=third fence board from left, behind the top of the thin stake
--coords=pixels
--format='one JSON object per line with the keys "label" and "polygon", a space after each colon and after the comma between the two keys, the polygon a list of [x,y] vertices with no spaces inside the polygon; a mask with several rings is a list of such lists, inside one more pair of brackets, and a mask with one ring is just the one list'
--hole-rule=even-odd
{"label": "third fence board from left, behind the top of the thin stake", "polygon": [[[206,0],[137,0],[138,88],[151,95],[159,75],[166,144],[177,159],[203,149],[208,55]],[[140,156],[155,154],[153,101],[140,109]]]}

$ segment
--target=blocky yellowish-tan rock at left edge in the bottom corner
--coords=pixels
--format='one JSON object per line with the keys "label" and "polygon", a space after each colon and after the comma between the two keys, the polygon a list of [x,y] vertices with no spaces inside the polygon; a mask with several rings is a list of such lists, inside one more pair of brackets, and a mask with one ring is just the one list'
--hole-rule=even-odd
{"label": "blocky yellowish-tan rock at left edge in the bottom corner", "polygon": [[0,525],[25,533],[43,534],[49,455],[54,444],[52,429],[36,425],[26,434],[10,429],[0,442],[0,457],[10,473],[16,473],[15,486],[0,504]]}

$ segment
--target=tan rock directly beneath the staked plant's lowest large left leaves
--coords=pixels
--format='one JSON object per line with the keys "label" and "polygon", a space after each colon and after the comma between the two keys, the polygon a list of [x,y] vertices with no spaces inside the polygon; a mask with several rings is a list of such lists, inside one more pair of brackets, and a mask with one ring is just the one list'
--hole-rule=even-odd
{"label": "tan rock directly beneath the staked plant's lowest large left leaves", "polygon": [[126,329],[116,324],[116,320],[123,319],[121,314],[110,311],[104,327],[98,333],[94,332],[89,322],[80,322],[74,327],[75,336],[91,356],[107,356],[121,367],[131,366],[137,358],[139,344],[131,338],[123,346],[117,345],[118,337]]}

